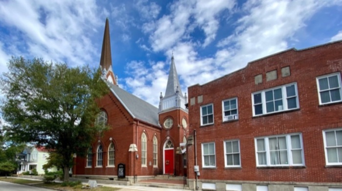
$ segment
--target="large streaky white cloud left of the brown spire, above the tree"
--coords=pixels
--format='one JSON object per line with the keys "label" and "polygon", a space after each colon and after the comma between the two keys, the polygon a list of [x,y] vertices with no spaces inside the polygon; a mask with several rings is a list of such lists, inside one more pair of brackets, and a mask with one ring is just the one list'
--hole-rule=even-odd
{"label": "large streaky white cloud left of the brown spire, above the tree", "polygon": [[23,35],[16,42],[17,49],[27,47],[22,53],[82,65],[95,53],[89,31],[99,24],[97,9],[94,0],[11,0],[1,3],[0,21]]}

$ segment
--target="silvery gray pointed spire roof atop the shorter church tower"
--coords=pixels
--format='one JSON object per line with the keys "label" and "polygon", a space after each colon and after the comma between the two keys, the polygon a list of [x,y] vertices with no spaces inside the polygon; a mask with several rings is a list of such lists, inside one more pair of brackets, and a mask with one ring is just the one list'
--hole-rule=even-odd
{"label": "silvery gray pointed spire roof atop the shorter church tower", "polygon": [[169,79],[168,79],[168,85],[166,86],[166,91],[165,91],[165,96],[164,97],[168,97],[168,96],[174,95],[176,93],[177,87],[178,87],[179,95],[181,95],[183,97],[182,89],[181,89],[180,84],[179,84],[179,79],[178,79],[178,74],[177,74],[176,66],[174,64],[174,58],[173,58],[173,55],[172,55],[170,72],[169,72]]}

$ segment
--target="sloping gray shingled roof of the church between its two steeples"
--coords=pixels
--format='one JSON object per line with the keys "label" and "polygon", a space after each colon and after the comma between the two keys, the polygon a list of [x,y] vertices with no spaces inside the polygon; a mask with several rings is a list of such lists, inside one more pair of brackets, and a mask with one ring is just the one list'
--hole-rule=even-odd
{"label": "sloping gray shingled roof of the church between its two steeples", "polygon": [[150,123],[155,126],[159,126],[158,123],[158,108],[145,102],[144,100],[128,93],[124,89],[107,83],[111,92],[121,102],[121,104],[127,109],[129,114],[138,120]]}

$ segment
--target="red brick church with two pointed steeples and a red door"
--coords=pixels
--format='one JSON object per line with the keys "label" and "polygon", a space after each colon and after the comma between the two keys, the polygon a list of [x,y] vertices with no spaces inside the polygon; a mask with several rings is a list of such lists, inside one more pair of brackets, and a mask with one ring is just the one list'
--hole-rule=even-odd
{"label": "red brick church with two pointed steeples and a red door", "polygon": [[185,175],[187,97],[181,91],[173,55],[159,108],[118,86],[112,68],[108,19],[100,67],[110,91],[98,102],[101,112],[97,122],[109,129],[89,146],[85,158],[76,157],[73,175],[116,180],[119,164],[125,165],[125,180],[131,182],[158,174]]}

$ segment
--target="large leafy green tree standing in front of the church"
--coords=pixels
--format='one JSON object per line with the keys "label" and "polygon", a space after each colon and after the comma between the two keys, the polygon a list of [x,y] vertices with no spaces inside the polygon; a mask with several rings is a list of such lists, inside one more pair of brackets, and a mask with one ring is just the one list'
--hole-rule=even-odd
{"label": "large leafy green tree standing in front of the church", "polygon": [[99,112],[96,100],[107,85],[101,71],[88,66],[68,67],[42,59],[12,57],[8,72],[0,78],[5,95],[1,105],[6,136],[15,142],[44,146],[62,156],[64,181],[69,181],[72,155],[86,149],[102,132],[94,124]]}

